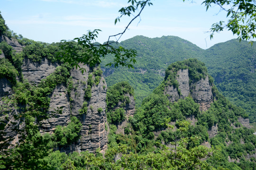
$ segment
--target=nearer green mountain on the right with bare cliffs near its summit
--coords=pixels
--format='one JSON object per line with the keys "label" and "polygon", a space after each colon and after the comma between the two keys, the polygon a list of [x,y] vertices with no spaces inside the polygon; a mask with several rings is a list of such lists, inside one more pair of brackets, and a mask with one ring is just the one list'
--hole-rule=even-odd
{"label": "nearer green mountain on the right with bare cliffs near its summit", "polygon": [[[119,91],[123,85],[111,88]],[[117,127],[123,121],[125,131],[120,133]],[[204,63],[197,59],[169,65],[164,81],[143,100],[135,114],[130,115],[128,124],[127,119],[123,121],[109,122],[108,149],[115,151],[115,156],[122,154],[126,161],[132,160],[132,164],[124,165],[128,169],[137,166],[185,169],[195,164],[194,169],[205,166],[204,169],[249,170],[255,167],[256,136],[247,128],[246,112],[219,93]],[[123,144],[130,153],[119,152]],[[206,158],[205,164],[195,162],[207,154],[211,156]],[[151,159],[148,164],[147,159]]]}

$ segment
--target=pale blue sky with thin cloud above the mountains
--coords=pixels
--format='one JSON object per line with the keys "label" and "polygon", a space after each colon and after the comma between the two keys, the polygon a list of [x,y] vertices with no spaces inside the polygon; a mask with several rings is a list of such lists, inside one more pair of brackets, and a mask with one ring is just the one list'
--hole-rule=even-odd
{"label": "pale blue sky with thin cloud above the mountains", "polygon": [[[88,30],[100,29],[97,42],[106,42],[110,35],[121,33],[132,17],[121,17],[119,9],[128,0],[0,0],[1,15],[10,30],[40,42],[60,42],[81,37]],[[213,23],[226,20],[226,13],[212,6],[206,11],[202,0],[152,0],[122,35],[119,42],[136,35],[155,38],[173,35],[202,49],[237,38],[230,31],[214,34]],[[111,40],[116,40],[112,37]]]}

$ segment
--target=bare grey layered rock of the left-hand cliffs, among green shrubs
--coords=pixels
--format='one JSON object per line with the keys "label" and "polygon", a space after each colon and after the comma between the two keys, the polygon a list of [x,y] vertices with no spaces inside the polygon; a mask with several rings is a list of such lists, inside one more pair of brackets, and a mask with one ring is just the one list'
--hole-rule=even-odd
{"label": "bare grey layered rock of the left-hand cliffs, among green shrubs", "polygon": [[[22,46],[15,40],[2,36],[0,41],[7,42],[15,50],[14,52],[22,51]],[[5,55],[2,54],[1,57],[4,58]],[[40,62],[33,62],[32,59],[25,57],[19,76],[23,76],[23,79],[27,80],[30,85],[37,87],[42,79],[53,74],[60,65],[61,63],[51,62],[47,58],[42,58]],[[104,151],[107,148],[108,136],[108,132],[105,129],[107,124],[105,112],[107,84],[102,73],[95,75],[95,71],[99,70],[99,68],[89,68],[87,65],[81,65],[81,68],[84,68],[86,72],[82,73],[75,68],[71,69],[69,84],[56,82],[55,89],[47,96],[50,98],[49,118],[40,122],[40,132],[42,134],[46,132],[53,134],[57,126],[66,126],[70,122],[71,116],[75,116],[82,123],[82,130],[79,134],[81,137],[77,142],[60,149],[64,152],[95,152],[97,148]],[[90,87],[87,85],[89,76],[92,81]],[[95,78],[96,76],[97,78]],[[89,98],[85,96],[89,95],[88,93],[85,94],[88,88],[90,89]],[[9,96],[12,93],[12,84],[9,80],[5,77],[0,78],[0,98]],[[86,112],[81,113],[83,107],[88,109]],[[56,110],[61,110],[61,114]],[[10,114],[15,113],[12,112]],[[10,130],[11,128],[12,126],[6,128],[7,136],[17,138],[16,134]]]}

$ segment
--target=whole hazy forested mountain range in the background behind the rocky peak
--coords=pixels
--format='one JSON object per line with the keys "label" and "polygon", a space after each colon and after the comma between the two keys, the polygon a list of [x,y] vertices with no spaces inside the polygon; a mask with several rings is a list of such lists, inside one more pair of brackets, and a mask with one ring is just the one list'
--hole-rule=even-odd
{"label": "whole hazy forested mountain range in the background behind the rocky peak", "polygon": [[135,36],[119,45],[137,50],[135,69],[105,67],[109,59],[102,62],[101,68],[108,85],[128,81],[135,88],[137,106],[163,80],[169,64],[197,58],[205,63],[220,92],[246,109],[251,122],[256,121],[255,43],[251,46],[234,39],[202,50],[179,37]]}

